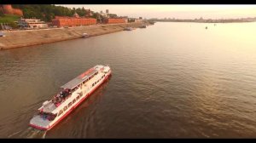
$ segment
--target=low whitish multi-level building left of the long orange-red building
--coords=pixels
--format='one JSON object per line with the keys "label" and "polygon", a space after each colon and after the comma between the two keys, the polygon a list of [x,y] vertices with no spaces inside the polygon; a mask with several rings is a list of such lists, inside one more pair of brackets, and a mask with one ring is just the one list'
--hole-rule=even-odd
{"label": "low whitish multi-level building left of the long orange-red building", "polygon": [[25,28],[25,29],[39,29],[39,28],[47,28],[48,25],[42,21],[42,20],[38,20],[38,19],[20,19],[18,20],[18,26],[20,26],[20,28]]}

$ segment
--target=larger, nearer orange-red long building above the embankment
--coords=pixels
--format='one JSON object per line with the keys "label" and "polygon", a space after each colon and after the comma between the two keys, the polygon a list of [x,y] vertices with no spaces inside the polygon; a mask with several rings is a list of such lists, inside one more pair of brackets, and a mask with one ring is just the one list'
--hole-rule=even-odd
{"label": "larger, nearer orange-red long building above the embankment", "polygon": [[78,14],[74,14],[73,17],[55,16],[55,20],[52,20],[52,25],[57,27],[90,26],[90,25],[96,25],[96,19],[81,18],[79,17]]}

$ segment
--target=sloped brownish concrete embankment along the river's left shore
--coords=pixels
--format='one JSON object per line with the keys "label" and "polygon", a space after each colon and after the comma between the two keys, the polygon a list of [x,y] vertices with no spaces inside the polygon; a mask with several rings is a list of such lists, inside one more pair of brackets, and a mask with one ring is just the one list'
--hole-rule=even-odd
{"label": "sloped brownish concrete embankment along the river's left shore", "polygon": [[79,26],[71,28],[56,28],[32,31],[9,31],[0,37],[0,49],[14,49],[25,46],[32,46],[44,43],[54,43],[58,41],[70,40],[82,37],[83,33],[88,33],[91,37],[102,34],[123,31],[125,27],[139,27],[144,23],[125,23],[115,25],[100,26]]}

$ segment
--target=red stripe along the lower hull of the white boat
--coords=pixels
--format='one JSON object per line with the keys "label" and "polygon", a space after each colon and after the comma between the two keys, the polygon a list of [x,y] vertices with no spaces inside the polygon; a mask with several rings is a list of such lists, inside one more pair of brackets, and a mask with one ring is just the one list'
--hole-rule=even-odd
{"label": "red stripe along the lower hull of the white boat", "polygon": [[[108,76],[105,77],[105,79],[104,79],[104,81],[103,81],[102,83],[104,83],[104,82],[108,79],[108,77],[109,77],[110,75],[111,75],[111,73],[110,73]],[[90,94],[92,94],[96,89],[98,89],[98,88],[102,85],[102,83],[99,84],[98,86],[96,86],[95,89],[93,89],[92,91],[90,91],[90,93],[89,93],[87,96],[85,96],[83,99],[79,100],[79,102],[78,102],[75,106],[73,106],[72,108],[70,108],[70,110],[69,110],[68,112],[66,112],[61,118],[59,118],[53,125],[49,126],[49,128],[39,127],[39,126],[34,125],[34,124],[29,124],[29,125],[32,126],[33,128],[41,129],[41,130],[49,130],[49,129],[52,129],[57,123],[60,123],[61,120],[62,120],[64,117],[67,117],[67,115],[68,115],[70,112],[72,112],[73,109],[75,109],[77,106],[79,106],[79,104],[80,104],[82,101],[84,101],[85,99],[87,99],[87,98],[90,96]]]}

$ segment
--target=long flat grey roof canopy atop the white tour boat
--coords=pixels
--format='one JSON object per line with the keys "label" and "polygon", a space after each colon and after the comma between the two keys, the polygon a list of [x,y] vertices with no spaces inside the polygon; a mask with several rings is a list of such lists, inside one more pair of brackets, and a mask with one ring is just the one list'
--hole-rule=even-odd
{"label": "long flat grey roof canopy atop the white tour boat", "polygon": [[73,80],[69,81],[68,83],[64,84],[61,86],[63,89],[73,89],[76,86],[78,86],[80,83],[83,83],[87,78],[89,78],[91,75],[95,74],[98,72],[97,69],[91,68],[90,70],[82,73],[79,75],[79,77],[73,78]]}

